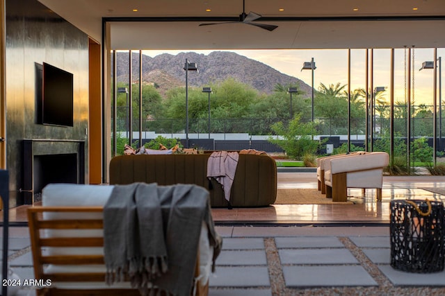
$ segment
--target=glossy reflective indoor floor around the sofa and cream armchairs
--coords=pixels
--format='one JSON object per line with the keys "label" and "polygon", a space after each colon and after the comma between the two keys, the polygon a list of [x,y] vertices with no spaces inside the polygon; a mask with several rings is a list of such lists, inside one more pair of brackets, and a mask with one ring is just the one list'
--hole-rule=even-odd
{"label": "glossy reflective indoor floor around the sofa and cream armchairs", "polygon": [[[349,200],[355,204],[274,204],[261,208],[212,209],[217,225],[311,225],[346,224],[373,225],[389,223],[389,202],[394,199],[441,200],[445,195],[431,193],[421,187],[445,188],[443,176],[385,176],[382,202],[375,200],[375,191],[362,195],[361,189],[348,189]],[[278,173],[278,188],[316,188],[315,173]],[[10,222],[26,222],[26,208],[10,209]]]}

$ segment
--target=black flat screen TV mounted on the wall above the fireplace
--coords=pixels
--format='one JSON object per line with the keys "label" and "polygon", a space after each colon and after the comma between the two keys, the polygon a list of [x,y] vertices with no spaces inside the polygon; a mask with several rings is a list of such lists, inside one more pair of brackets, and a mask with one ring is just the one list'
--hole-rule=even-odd
{"label": "black flat screen TV mounted on the wall above the fireplace", "polygon": [[73,75],[43,63],[42,123],[73,126]]}

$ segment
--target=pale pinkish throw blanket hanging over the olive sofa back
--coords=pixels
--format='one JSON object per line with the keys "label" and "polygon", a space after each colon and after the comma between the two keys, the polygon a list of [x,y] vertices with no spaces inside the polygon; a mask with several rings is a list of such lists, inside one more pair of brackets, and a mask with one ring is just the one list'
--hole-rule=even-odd
{"label": "pale pinkish throw blanket hanging over the olive sofa back", "polygon": [[207,161],[207,177],[215,180],[223,186],[224,198],[230,202],[230,191],[234,182],[236,166],[239,155],[236,152],[216,151]]}

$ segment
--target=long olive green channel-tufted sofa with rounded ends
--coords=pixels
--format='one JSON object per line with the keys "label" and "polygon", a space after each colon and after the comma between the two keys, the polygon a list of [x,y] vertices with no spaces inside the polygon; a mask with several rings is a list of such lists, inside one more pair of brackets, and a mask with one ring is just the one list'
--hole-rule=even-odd
{"label": "long olive green channel-tufted sofa with rounded ends", "polygon": [[110,162],[110,184],[196,184],[209,190],[211,207],[265,207],[277,198],[277,166],[267,155],[240,154],[230,204],[216,180],[207,178],[210,154],[122,155]]}

